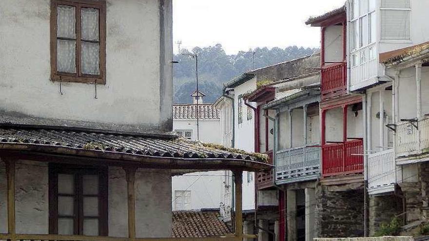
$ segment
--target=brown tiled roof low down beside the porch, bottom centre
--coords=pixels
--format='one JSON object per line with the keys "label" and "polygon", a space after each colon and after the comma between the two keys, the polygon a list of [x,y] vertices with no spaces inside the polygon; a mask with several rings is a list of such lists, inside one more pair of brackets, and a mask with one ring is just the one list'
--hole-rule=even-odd
{"label": "brown tiled roof low down beside the porch, bottom centre", "polygon": [[173,238],[206,238],[230,234],[219,211],[174,211]]}

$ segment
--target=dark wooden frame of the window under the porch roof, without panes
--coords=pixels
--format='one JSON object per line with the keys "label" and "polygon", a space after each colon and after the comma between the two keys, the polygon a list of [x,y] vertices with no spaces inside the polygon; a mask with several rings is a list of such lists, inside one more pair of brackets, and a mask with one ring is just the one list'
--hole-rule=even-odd
{"label": "dark wooden frame of the window under the porch roof, without panes", "polygon": [[82,176],[85,174],[98,175],[98,236],[108,236],[108,168],[85,167],[74,165],[49,165],[49,234],[58,234],[58,174],[73,174],[79,178],[74,181],[75,194],[74,215],[78,222],[74,222],[74,235],[83,235],[83,195]]}

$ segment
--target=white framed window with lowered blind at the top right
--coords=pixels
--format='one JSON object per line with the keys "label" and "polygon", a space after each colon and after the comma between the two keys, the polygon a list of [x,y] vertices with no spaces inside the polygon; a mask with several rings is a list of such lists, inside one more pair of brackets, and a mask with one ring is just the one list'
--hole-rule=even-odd
{"label": "white framed window with lowered blind at the top right", "polygon": [[410,17],[410,0],[381,0],[381,40],[410,40]]}

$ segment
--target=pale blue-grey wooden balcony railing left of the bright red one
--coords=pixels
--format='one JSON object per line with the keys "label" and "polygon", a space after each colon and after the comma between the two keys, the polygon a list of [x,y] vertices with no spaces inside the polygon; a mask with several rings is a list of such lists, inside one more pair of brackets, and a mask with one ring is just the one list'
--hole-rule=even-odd
{"label": "pale blue-grey wooden balcony railing left of the bright red one", "polygon": [[286,184],[317,179],[320,175],[320,146],[277,151],[275,183]]}

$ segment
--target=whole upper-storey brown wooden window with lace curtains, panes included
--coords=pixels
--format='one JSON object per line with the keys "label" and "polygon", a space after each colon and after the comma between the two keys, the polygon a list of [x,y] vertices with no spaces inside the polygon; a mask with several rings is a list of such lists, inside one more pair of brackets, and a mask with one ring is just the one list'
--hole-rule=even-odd
{"label": "whole upper-storey brown wooden window with lace curtains, panes included", "polygon": [[51,1],[51,78],[105,83],[106,3]]}

